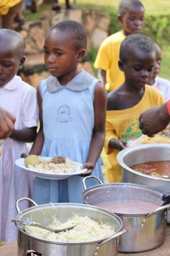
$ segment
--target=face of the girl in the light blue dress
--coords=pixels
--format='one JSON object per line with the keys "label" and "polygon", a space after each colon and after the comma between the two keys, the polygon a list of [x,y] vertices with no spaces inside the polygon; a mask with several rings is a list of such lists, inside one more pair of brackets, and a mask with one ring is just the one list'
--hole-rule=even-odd
{"label": "face of the girl in the light blue dress", "polygon": [[[76,50],[71,35],[52,30],[45,39],[45,64],[49,72],[60,81],[75,75],[78,62],[81,60],[80,50]],[[83,57],[83,56],[82,56]]]}

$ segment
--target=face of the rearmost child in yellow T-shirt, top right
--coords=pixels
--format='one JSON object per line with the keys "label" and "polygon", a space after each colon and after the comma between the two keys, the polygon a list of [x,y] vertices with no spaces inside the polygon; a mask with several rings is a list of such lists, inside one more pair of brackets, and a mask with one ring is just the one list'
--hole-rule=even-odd
{"label": "face of the rearmost child in yellow T-shirt, top right", "polygon": [[122,26],[125,35],[140,33],[144,25],[143,7],[134,7],[127,11],[123,16],[118,16],[118,21]]}

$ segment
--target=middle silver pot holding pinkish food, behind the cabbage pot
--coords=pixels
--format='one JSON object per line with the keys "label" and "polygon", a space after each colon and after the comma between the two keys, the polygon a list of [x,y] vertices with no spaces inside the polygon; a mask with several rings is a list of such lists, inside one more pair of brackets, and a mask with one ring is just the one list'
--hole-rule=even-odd
{"label": "middle silver pot holding pinkish food, behind the cabbage pot", "polygon": [[[86,189],[86,179],[97,179],[99,185]],[[82,199],[89,205],[97,205],[108,201],[140,200],[156,205],[164,204],[163,193],[151,187],[130,183],[102,184],[95,176],[83,179],[84,192]],[[164,205],[153,213],[122,214],[116,213],[122,219],[123,228],[128,232],[119,239],[120,252],[143,252],[161,246],[166,235],[166,213],[170,205]]]}

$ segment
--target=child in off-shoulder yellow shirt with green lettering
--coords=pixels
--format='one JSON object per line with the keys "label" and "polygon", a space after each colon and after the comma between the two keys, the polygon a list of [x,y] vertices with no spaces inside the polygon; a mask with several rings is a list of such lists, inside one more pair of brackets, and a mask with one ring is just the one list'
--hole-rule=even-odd
{"label": "child in off-shoulder yellow shirt with green lettering", "polygon": [[153,42],[146,36],[129,35],[123,40],[119,67],[125,74],[125,82],[107,95],[105,147],[109,182],[121,182],[122,168],[117,163],[117,153],[126,147],[126,141],[142,135],[138,127],[140,114],[164,103],[161,93],[146,85],[155,61]]}

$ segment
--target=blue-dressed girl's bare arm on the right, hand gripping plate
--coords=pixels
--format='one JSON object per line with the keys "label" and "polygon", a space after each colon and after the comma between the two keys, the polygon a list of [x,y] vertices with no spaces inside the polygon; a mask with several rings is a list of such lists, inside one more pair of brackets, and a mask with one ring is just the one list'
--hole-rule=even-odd
{"label": "blue-dressed girl's bare arm on the right, hand gripping plate", "polygon": [[98,83],[94,93],[94,132],[91,139],[89,155],[84,163],[84,168],[89,171],[85,175],[91,174],[99,158],[104,145],[105,119],[106,119],[106,93],[101,83]]}

